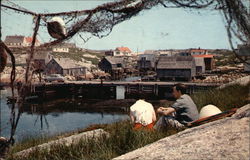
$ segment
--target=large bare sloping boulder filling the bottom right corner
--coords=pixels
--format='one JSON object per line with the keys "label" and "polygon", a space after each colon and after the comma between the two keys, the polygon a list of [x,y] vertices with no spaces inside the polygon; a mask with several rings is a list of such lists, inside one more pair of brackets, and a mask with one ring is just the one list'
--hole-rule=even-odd
{"label": "large bare sloping boulder filling the bottom right corner", "polygon": [[249,159],[250,104],[232,117],[189,128],[114,160]]}

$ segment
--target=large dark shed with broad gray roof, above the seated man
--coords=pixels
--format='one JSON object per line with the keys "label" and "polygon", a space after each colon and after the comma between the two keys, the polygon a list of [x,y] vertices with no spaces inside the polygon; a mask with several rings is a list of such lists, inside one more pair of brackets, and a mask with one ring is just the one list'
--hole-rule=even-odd
{"label": "large dark shed with broad gray roof, above the seated man", "polygon": [[191,80],[196,74],[195,60],[192,56],[161,55],[156,73],[160,80]]}

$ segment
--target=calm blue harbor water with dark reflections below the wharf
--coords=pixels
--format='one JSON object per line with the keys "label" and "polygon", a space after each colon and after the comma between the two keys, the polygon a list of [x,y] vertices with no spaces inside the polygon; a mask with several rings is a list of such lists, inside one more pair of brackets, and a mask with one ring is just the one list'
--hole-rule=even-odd
{"label": "calm blue harbor water with dark reflections below the wharf", "polygon": [[[1,90],[0,136],[9,138],[11,131],[11,104],[7,104],[10,90]],[[85,104],[86,105],[86,104]],[[88,105],[87,105],[88,106]],[[125,112],[109,112],[83,109],[80,103],[64,101],[43,104],[26,104],[20,111],[15,140],[27,137],[51,136],[63,132],[83,129],[92,124],[112,123],[128,119]],[[17,118],[18,109],[15,109]]]}

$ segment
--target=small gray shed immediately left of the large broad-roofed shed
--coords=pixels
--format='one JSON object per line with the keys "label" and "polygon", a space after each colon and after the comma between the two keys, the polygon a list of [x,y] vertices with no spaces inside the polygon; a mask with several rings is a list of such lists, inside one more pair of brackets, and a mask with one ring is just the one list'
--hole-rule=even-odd
{"label": "small gray shed immediately left of the large broad-roofed shed", "polygon": [[137,67],[139,70],[155,70],[155,62],[155,54],[141,54],[137,61]]}

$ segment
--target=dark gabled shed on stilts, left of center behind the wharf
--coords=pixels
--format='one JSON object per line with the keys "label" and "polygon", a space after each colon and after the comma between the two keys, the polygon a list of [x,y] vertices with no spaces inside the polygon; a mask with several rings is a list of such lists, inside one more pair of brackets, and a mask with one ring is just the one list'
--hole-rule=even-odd
{"label": "dark gabled shed on stilts, left of center behind the wharf", "polygon": [[113,80],[121,79],[124,73],[125,62],[123,57],[107,56],[101,59],[98,67],[111,75]]}

